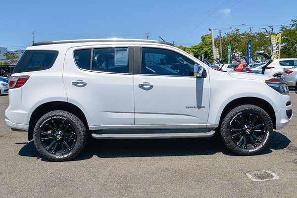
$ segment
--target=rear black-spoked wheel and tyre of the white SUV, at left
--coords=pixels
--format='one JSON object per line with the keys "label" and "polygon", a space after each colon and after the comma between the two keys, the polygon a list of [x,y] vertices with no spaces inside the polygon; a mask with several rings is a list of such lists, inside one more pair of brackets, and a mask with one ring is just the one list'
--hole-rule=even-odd
{"label": "rear black-spoked wheel and tyre of the white SUV, at left", "polygon": [[39,153],[49,161],[67,161],[77,156],[87,141],[83,122],[67,111],[55,110],[36,123],[33,140]]}

